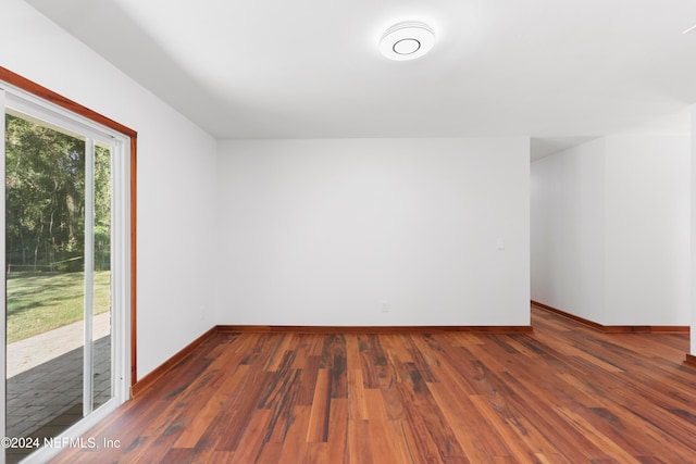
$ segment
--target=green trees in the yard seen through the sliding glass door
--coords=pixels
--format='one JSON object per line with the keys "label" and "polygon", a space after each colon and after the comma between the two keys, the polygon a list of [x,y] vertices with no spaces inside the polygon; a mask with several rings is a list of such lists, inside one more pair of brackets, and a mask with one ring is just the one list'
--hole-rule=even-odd
{"label": "green trees in the yard seen through the sliding glass door", "polygon": [[[99,268],[110,248],[110,155],[95,161],[95,231]],[[85,141],[32,121],[5,115],[7,265],[35,271],[62,263],[82,271],[85,247]],[[73,260],[73,261],[70,261]]]}

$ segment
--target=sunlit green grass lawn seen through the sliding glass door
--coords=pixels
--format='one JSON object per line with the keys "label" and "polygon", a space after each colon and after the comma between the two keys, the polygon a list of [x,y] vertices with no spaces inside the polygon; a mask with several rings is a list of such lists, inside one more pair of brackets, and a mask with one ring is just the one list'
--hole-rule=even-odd
{"label": "sunlit green grass lawn seen through the sliding glass door", "polygon": [[[8,343],[82,321],[84,274],[10,274]],[[95,314],[111,306],[111,273],[95,273]]]}

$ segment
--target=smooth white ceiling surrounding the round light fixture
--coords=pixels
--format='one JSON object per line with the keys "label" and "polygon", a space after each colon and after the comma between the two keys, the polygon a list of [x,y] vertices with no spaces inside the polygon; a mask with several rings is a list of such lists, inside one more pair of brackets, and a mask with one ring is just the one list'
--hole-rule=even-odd
{"label": "smooth white ceiling surrounding the round light fixture", "polygon": [[[26,1],[219,138],[532,136],[548,153],[696,102],[694,0]],[[405,20],[435,48],[386,60]]]}

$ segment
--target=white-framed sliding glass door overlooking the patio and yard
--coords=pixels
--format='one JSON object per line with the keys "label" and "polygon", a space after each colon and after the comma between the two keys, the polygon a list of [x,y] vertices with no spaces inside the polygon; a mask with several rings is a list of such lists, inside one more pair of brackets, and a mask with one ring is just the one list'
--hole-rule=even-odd
{"label": "white-framed sliding glass door overlooking the patio and yard", "polygon": [[125,163],[117,137],[2,97],[4,437],[17,441],[4,459],[18,462],[125,400]]}

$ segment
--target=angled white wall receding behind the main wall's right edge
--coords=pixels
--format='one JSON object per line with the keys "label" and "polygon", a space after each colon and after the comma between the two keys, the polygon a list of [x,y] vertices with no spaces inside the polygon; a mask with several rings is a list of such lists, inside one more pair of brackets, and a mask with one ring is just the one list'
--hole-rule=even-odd
{"label": "angled white wall receding behind the main wall's right edge", "polygon": [[605,141],[532,163],[532,299],[591,321],[604,314]]}

